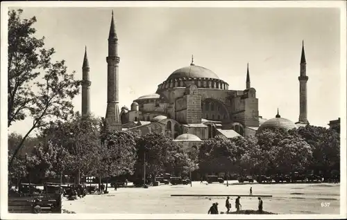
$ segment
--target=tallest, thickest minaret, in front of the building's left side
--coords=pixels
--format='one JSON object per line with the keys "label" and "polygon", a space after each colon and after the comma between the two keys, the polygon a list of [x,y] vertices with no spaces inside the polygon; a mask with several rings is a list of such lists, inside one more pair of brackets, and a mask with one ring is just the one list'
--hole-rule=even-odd
{"label": "tallest, thickest minaret, in front of the building's left side", "polygon": [[105,116],[105,119],[108,123],[108,129],[110,129],[110,131],[121,131],[121,120],[119,118],[118,107],[119,60],[118,39],[112,10],[110,34],[108,35],[108,57],[106,57],[106,61],[108,62],[108,105]]}

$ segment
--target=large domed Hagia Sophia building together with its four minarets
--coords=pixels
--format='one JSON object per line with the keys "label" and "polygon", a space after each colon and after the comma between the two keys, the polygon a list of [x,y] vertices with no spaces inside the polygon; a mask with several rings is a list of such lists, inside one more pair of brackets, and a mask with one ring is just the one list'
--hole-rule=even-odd
{"label": "large domed Hagia Sophia building together with its four minarets", "polygon": [[[254,136],[257,131],[269,127],[293,129],[308,125],[307,80],[304,46],[301,51],[300,114],[294,123],[281,118],[266,120],[259,116],[256,90],[251,86],[247,65],[244,90],[232,90],[228,82],[216,73],[192,62],[178,68],[155,93],[142,95],[128,107],[119,111],[119,62],[118,38],[112,19],[108,36],[108,91],[105,119],[109,129],[133,131],[139,135],[160,132],[185,147],[197,146],[202,140],[219,136]],[[82,116],[90,114],[90,66],[87,51],[83,59]]]}

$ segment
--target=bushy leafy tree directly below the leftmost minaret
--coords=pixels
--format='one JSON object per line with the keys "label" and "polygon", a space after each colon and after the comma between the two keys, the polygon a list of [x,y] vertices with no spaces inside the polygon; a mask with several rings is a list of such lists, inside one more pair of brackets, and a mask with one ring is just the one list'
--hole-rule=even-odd
{"label": "bushy leafy tree directly below the leftmost minaret", "polygon": [[76,175],[80,183],[80,174],[94,174],[100,141],[100,120],[89,116],[82,118],[77,112],[66,122],[52,123],[40,135],[45,143],[61,146],[69,152],[67,172]]}

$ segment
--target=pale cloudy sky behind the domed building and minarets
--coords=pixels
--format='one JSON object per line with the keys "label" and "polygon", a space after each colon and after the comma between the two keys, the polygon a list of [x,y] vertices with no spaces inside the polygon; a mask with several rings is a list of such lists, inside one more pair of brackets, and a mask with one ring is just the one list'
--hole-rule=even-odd
{"label": "pale cloudy sky behind the domed building and minarets", "polygon": [[[84,48],[90,63],[91,111],[105,116],[108,32],[114,10],[119,38],[119,108],[155,93],[176,69],[194,63],[214,71],[229,89],[251,86],[259,113],[294,122],[299,115],[301,42],[307,61],[307,116],[326,127],[340,117],[340,15],[336,8],[23,8],[37,17],[38,37],[56,48],[70,72],[82,77]],[[74,98],[81,111],[81,94]],[[31,120],[10,131],[24,134]]]}

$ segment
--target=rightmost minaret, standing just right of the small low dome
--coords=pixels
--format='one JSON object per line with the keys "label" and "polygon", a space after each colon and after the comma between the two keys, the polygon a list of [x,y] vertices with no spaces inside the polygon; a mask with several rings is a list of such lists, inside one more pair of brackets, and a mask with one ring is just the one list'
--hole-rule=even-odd
{"label": "rightmost minaret, standing just right of the small low dome", "polygon": [[301,49],[301,62],[300,62],[300,76],[298,77],[300,82],[300,114],[299,123],[309,124],[307,120],[307,80],[306,75],[306,58],[305,58],[305,48]]}

